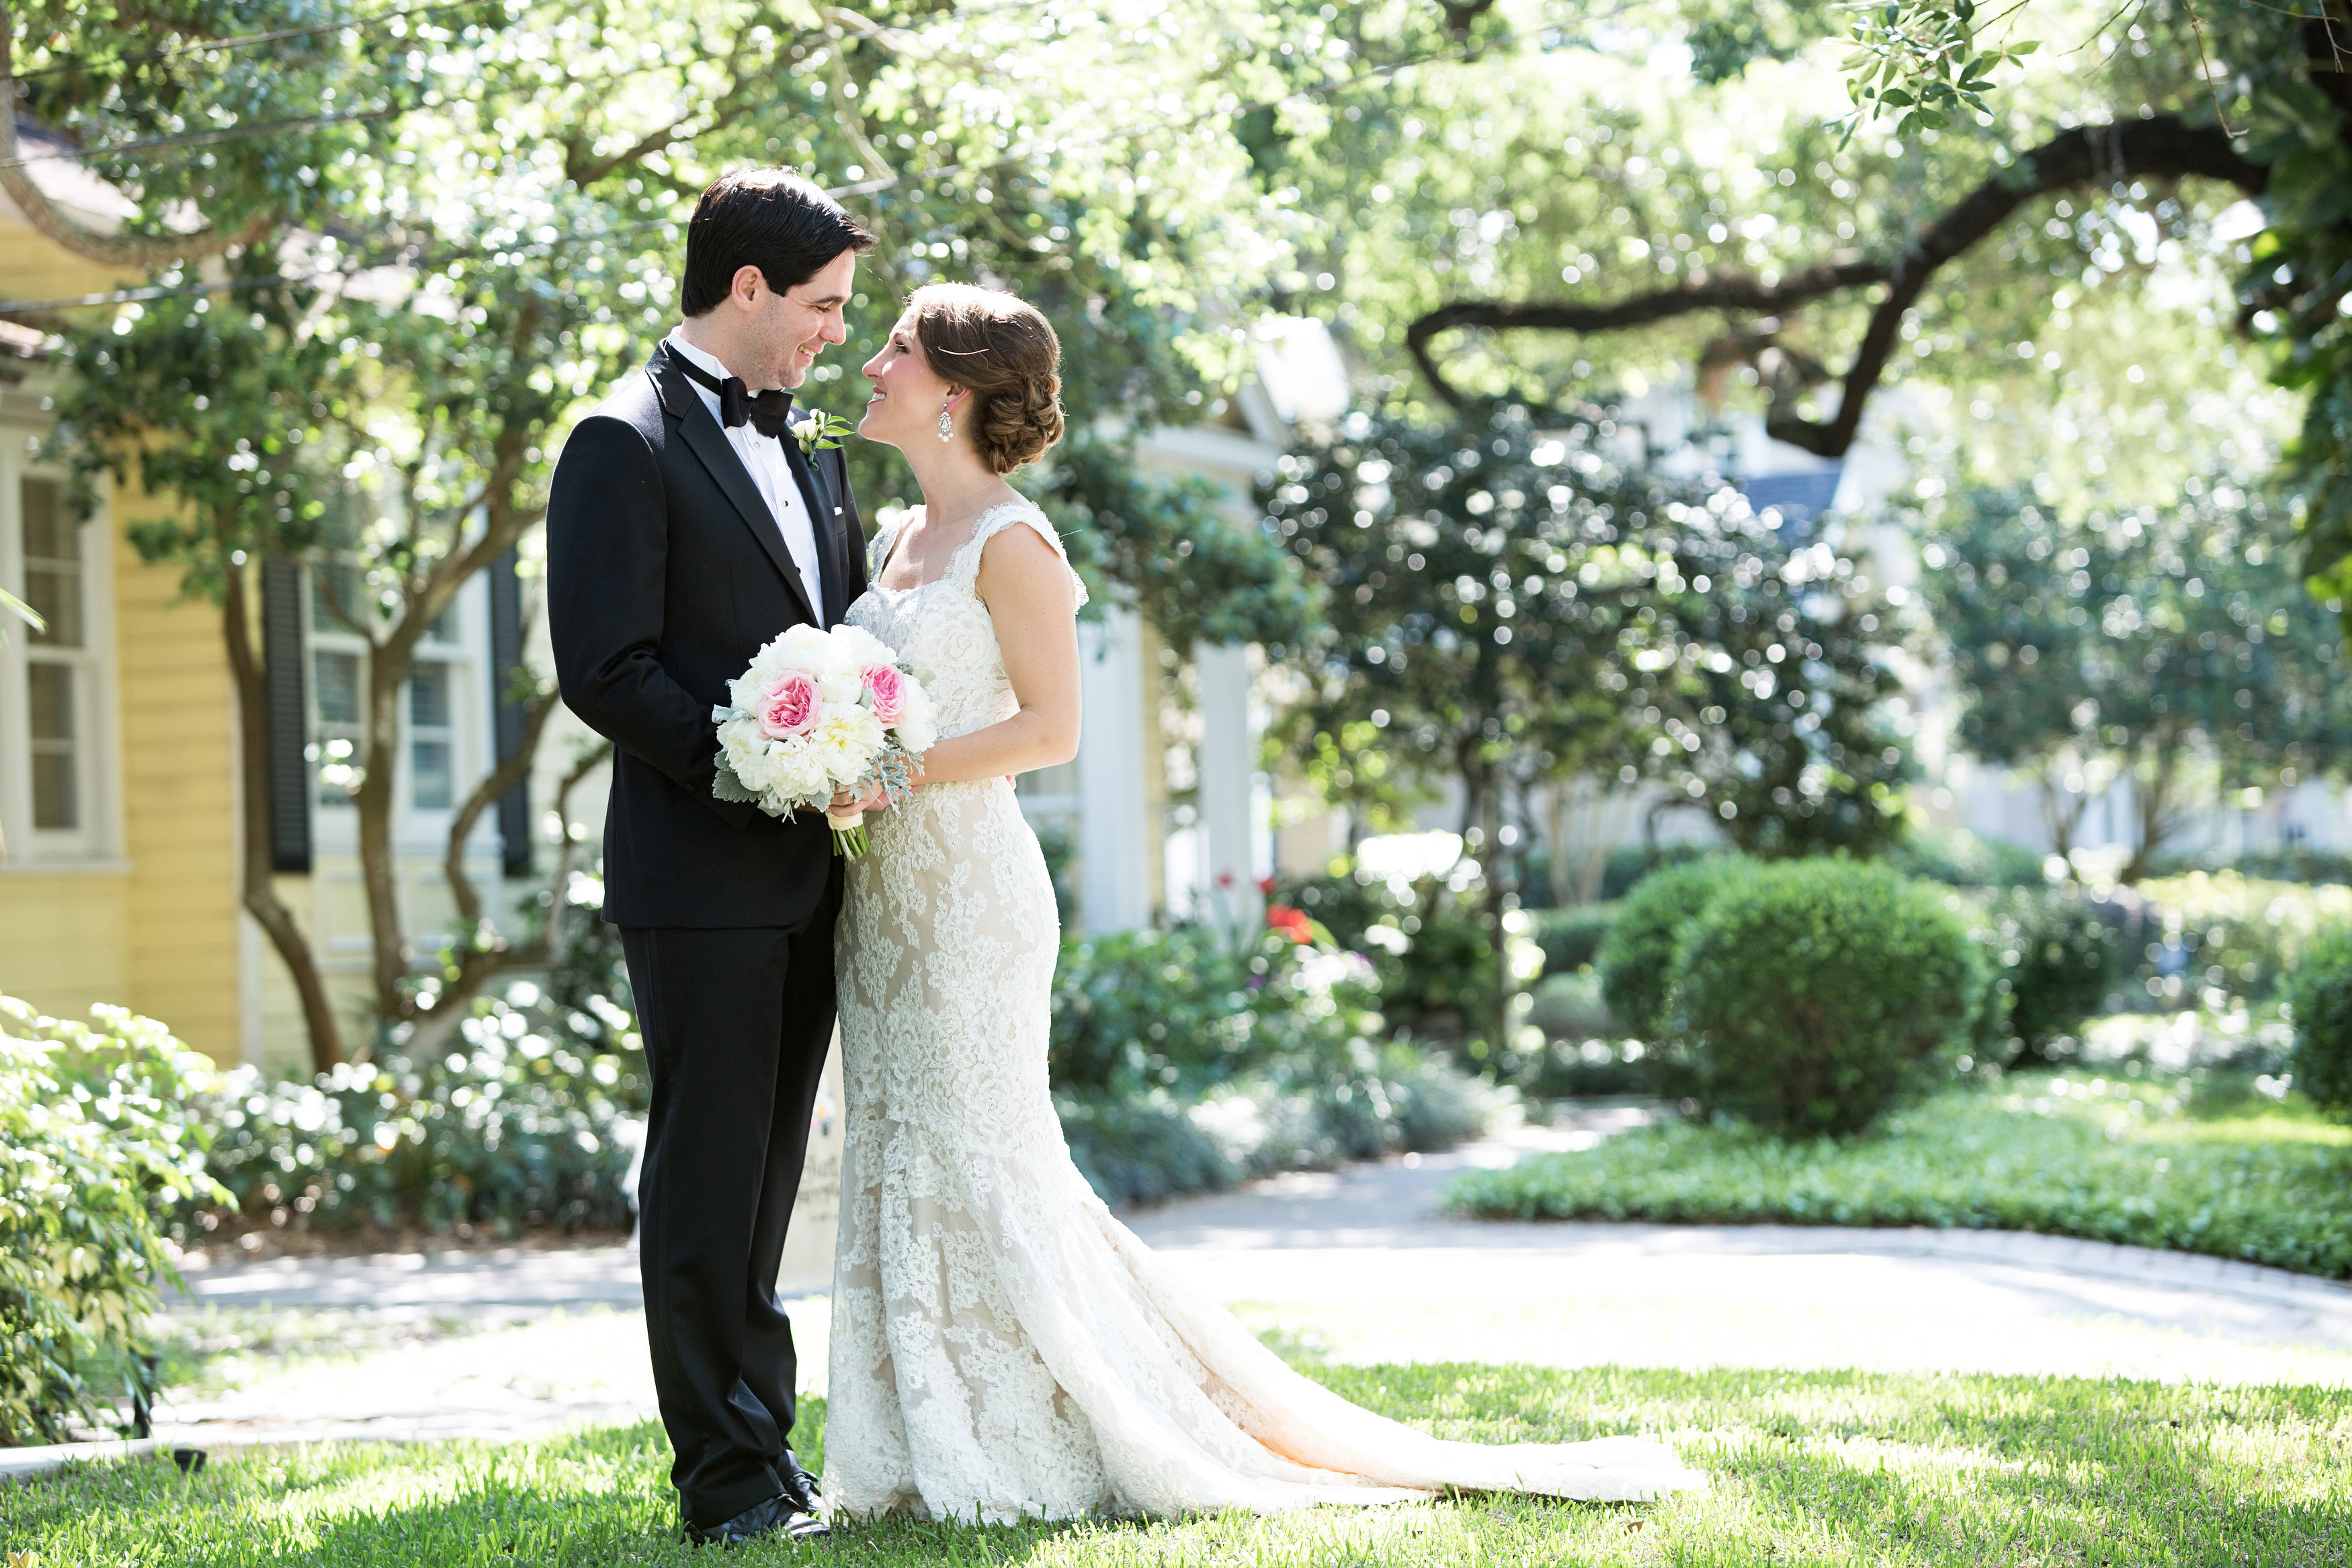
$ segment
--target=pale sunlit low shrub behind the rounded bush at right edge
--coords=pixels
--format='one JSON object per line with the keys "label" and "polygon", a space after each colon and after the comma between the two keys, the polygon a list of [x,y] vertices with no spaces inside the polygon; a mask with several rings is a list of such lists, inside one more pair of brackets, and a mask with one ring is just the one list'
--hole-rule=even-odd
{"label": "pale sunlit low shrub behind the rounded bush at right edge", "polygon": [[2138,978],[2152,997],[2199,990],[2265,1001],[2279,994],[2324,926],[2352,924],[2352,886],[2187,872],[2138,884],[2147,943]]}

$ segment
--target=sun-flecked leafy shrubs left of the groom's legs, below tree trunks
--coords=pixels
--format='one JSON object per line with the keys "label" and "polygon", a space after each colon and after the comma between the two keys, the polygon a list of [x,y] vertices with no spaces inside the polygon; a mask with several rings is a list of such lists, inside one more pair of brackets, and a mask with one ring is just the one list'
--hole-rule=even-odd
{"label": "sun-flecked leafy shrubs left of the groom's legs, below tree trunks", "polygon": [[240,1067],[198,1110],[212,1173],[252,1225],[506,1237],[628,1225],[621,1178],[644,1105],[616,1001],[567,1009],[517,985],[480,999],[437,1058],[386,1048],[310,1084]]}

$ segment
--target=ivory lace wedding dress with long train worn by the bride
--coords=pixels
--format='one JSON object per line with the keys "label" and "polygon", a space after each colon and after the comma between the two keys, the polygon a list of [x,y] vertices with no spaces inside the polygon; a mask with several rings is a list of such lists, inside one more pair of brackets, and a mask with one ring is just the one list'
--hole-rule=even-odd
{"label": "ivory lace wedding dress with long train worn by the bride", "polygon": [[[849,609],[908,658],[938,733],[1016,710],[981,548]],[[894,534],[875,541],[875,578]],[[1084,590],[1080,590],[1084,592]],[[1703,1486],[1639,1439],[1489,1448],[1359,1410],[1188,1291],[1070,1164],[1047,1093],[1054,886],[1011,783],[868,818],[837,926],[849,1100],[826,1507],[1011,1521],[1399,1502],[1442,1488],[1646,1500]]]}

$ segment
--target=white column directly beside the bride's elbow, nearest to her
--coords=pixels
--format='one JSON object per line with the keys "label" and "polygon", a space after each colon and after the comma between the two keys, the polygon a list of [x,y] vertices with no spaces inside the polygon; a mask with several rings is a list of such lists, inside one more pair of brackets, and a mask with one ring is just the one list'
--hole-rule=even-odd
{"label": "white column directly beside the bride's elbow, nearest to her", "polygon": [[1143,623],[1131,609],[1077,625],[1077,919],[1087,936],[1152,917],[1143,757]]}

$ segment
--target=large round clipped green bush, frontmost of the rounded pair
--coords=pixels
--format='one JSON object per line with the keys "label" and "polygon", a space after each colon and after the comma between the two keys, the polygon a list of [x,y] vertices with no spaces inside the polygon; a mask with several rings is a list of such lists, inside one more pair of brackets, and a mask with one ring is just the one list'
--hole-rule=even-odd
{"label": "large round clipped green bush, frontmost of the rounded pair", "polygon": [[1708,1112],[1870,1126],[1950,1070],[1983,1006],[1985,959],[1957,905],[1853,860],[1731,879],[1682,926],[1668,1063]]}

